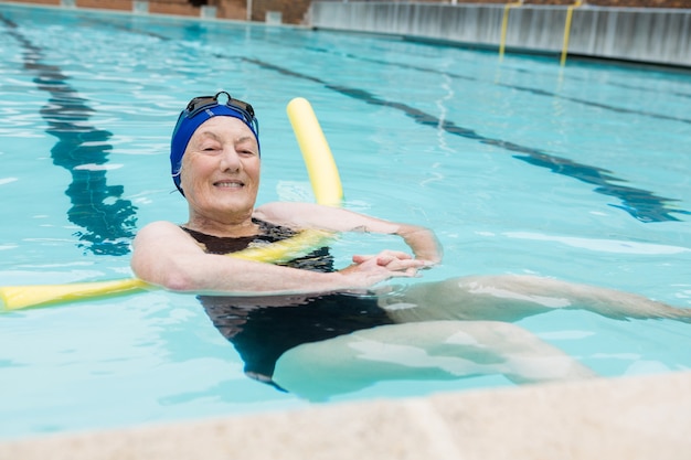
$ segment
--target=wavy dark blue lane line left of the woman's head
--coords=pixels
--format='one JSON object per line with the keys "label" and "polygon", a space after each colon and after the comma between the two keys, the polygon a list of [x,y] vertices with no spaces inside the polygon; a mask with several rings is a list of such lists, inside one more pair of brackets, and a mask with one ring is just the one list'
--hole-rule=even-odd
{"label": "wavy dark blue lane line left of the woman's head", "polygon": [[[94,109],[67,84],[67,76],[57,66],[43,64],[43,52],[19,32],[11,20],[0,14],[0,23],[23,50],[23,67],[35,75],[36,87],[49,94],[41,116],[47,122],[46,132],[56,137],[51,149],[53,164],[72,174],[65,194],[72,207],[67,218],[82,227],[76,232],[79,246],[97,255],[121,256],[129,253],[136,232],[136,207],[123,200],[123,185],[107,185],[106,171],[75,169],[83,164],[105,164],[113,146],[111,132],[85,124]],[[115,200],[114,200],[115,199]]]}

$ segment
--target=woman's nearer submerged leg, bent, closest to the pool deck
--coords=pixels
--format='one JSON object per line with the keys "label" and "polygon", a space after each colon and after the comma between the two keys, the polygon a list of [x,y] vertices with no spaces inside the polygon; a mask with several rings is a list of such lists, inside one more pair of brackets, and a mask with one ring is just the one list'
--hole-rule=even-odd
{"label": "woman's nearer submerged leg, bent, closest to the pool deck", "polygon": [[280,356],[274,382],[310,400],[326,400],[387,379],[497,374],[519,384],[595,375],[514,324],[426,321],[383,325],[299,345]]}

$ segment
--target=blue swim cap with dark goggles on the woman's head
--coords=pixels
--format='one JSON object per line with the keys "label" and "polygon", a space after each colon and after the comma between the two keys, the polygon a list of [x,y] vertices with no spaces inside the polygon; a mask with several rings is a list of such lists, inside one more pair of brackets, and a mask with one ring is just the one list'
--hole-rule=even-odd
{"label": "blue swim cap with dark goggles on the woman's head", "polygon": [[[227,101],[219,101],[219,95],[225,94]],[[190,139],[196,129],[211,117],[233,117],[243,121],[252,131],[259,146],[259,124],[254,116],[254,109],[247,103],[233,99],[226,92],[216,93],[215,96],[195,97],[190,100],[188,107],[180,113],[178,124],[170,140],[170,172],[176,188],[184,196],[180,186],[180,168],[182,156],[190,143]]]}

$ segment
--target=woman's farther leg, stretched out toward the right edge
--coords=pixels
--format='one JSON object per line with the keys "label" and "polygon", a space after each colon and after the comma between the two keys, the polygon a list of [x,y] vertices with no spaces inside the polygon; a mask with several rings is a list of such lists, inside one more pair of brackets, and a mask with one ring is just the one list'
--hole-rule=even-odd
{"label": "woman's farther leg, stretched out toward the right edge", "polygon": [[474,276],[422,282],[382,296],[398,322],[457,319],[517,321],[550,310],[583,309],[617,320],[673,319],[691,322],[691,309],[642,296],[535,276]]}

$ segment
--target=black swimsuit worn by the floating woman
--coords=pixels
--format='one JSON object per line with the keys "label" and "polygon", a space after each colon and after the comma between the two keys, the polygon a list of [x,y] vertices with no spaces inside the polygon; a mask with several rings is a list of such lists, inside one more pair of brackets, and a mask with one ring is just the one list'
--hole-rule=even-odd
{"label": "black swimsuit worn by the floating woman", "polygon": [[[295,235],[290,228],[253,220],[259,235],[224,238],[184,228],[211,254],[230,254]],[[315,271],[333,271],[333,257],[321,247],[305,257],[281,264]],[[245,363],[245,373],[270,382],[276,360],[302,343],[318,342],[362,329],[392,324],[372,296],[200,296],[206,313]]]}

